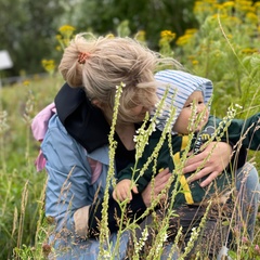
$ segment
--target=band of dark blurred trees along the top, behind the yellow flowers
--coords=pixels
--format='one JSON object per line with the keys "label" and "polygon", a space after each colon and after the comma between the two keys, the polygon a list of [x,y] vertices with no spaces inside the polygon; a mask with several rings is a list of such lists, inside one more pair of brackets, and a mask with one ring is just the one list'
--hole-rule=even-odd
{"label": "band of dark blurred trees along the top, behind the yellow flowers", "polygon": [[145,30],[150,47],[156,49],[161,29],[180,36],[197,25],[193,3],[192,0],[0,0],[0,50],[8,50],[14,62],[4,76],[41,73],[42,57],[58,60],[55,34],[64,24],[77,31],[103,35],[116,34],[118,25],[128,21],[130,30]]}

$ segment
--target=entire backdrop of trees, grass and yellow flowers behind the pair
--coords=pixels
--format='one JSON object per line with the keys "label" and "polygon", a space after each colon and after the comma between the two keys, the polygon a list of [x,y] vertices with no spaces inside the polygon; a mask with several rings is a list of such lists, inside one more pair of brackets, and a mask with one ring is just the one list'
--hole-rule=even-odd
{"label": "entire backdrop of trees, grass and yellow flowers behind the pair", "polygon": [[[9,50],[15,64],[5,75],[49,73],[0,90],[0,259],[44,258],[46,174],[34,167],[39,143],[30,121],[63,83],[56,74],[61,47],[82,30],[136,37],[213,81],[212,114],[224,116],[238,103],[237,117],[245,118],[259,112],[260,100],[260,4],[255,2],[0,0],[0,49]],[[249,159],[260,171],[259,155],[252,152]],[[234,259],[257,259],[259,234],[258,224],[255,242],[240,240]]]}

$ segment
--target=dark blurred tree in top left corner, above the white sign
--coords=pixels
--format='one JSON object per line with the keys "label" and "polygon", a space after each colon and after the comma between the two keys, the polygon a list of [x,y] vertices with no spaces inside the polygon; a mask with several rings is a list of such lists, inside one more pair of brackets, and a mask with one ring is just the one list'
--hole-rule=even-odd
{"label": "dark blurred tree in top left corner, above the white sign", "polygon": [[14,63],[6,74],[43,72],[42,57],[53,57],[62,1],[0,0],[0,50],[8,50]]}

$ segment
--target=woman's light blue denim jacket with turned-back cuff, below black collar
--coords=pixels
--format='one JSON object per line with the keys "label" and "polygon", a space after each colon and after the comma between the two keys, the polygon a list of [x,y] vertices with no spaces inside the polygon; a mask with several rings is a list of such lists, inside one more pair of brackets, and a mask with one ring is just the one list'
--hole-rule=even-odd
{"label": "woman's light blue denim jacket with turned-back cuff, below black collar", "polygon": [[[108,170],[108,146],[88,154],[61,123],[56,114],[49,121],[41,143],[48,171],[46,216],[55,220],[50,244],[56,259],[98,259],[100,243],[80,239],[87,235],[89,206],[95,195],[103,197]],[[92,167],[91,167],[92,166]],[[93,179],[93,172],[96,174]],[[110,235],[112,248],[117,234]],[[117,259],[127,253],[129,234],[120,237]],[[53,256],[54,257],[54,256]]]}

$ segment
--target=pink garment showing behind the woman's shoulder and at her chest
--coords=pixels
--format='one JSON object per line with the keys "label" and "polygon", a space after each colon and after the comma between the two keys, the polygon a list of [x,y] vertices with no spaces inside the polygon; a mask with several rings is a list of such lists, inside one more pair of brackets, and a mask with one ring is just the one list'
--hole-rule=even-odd
{"label": "pink garment showing behind the woman's shoulder and at her chest", "polygon": [[[46,108],[43,108],[31,122],[31,131],[34,138],[41,142],[46,135],[48,123],[51,117],[56,113],[56,107],[54,103],[51,103]],[[87,157],[90,168],[91,168],[91,184],[93,184],[100,177],[102,171],[102,164],[98,160]],[[46,158],[40,150],[38,157],[35,161],[37,171],[41,171],[46,167]]]}

